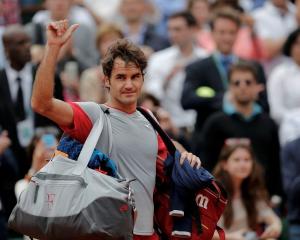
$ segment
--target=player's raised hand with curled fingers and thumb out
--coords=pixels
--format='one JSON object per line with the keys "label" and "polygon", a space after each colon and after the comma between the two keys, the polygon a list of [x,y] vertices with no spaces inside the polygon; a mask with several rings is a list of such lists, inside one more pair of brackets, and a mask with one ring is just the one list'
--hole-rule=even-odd
{"label": "player's raised hand with curled fingers and thumb out", "polygon": [[68,20],[51,22],[47,26],[47,44],[63,46],[72,36],[79,24],[69,26]]}

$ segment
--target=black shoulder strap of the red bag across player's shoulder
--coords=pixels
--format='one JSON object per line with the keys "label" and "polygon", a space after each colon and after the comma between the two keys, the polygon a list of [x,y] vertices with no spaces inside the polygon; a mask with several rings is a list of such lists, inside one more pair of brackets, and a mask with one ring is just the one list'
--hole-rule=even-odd
{"label": "black shoulder strap of the red bag across player's shoulder", "polygon": [[175,156],[176,152],[176,147],[168,134],[160,127],[158,122],[151,116],[151,114],[144,108],[142,107],[137,107],[137,110],[144,115],[144,117],[151,123],[153,128],[158,132],[159,136],[162,138],[164,143],[166,144],[166,147],[168,149],[168,152],[172,155]]}

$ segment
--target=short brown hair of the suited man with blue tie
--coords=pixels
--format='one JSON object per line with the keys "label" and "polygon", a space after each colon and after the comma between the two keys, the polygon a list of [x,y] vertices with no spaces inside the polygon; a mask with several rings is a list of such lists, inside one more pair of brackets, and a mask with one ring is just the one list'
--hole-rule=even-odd
{"label": "short brown hair of the suited man with blue tie", "polygon": [[210,27],[212,30],[214,29],[215,22],[220,18],[228,19],[234,22],[237,25],[237,27],[241,26],[240,13],[232,7],[217,8],[213,12],[212,17],[210,19]]}

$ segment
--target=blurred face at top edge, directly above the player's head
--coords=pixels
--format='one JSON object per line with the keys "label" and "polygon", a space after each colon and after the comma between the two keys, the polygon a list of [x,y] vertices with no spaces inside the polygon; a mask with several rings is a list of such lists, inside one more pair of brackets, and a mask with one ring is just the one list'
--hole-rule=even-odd
{"label": "blurred face at top edge, directly above the player's head", "polygon": [[121,13],[128,22],[139,21],[145,13],[144,0],[122,0]]}

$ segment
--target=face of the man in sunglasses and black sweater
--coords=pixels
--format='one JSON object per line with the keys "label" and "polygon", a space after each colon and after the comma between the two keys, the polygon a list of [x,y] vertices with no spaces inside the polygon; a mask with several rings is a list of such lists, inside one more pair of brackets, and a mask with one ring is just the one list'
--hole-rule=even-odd
{"label": "face of the man in sunglasses and black sweater", "polygon": [[256,101],[259,92],[263,89],[261,84],[255,81],[249,71],[234,71],[230,78],[230,93],[233,101],[240,105],[248,105]]}

